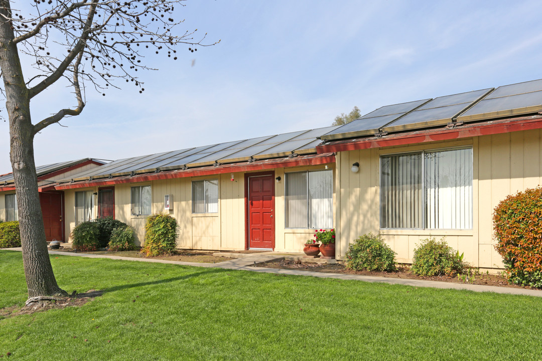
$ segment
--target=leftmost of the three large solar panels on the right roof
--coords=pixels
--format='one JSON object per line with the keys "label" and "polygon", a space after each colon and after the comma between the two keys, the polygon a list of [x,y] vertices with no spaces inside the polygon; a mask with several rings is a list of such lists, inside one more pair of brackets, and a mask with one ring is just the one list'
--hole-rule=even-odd
{"label": "leftmost of the three large solar panels on the right roof", "polygon": [[344,126],[321,136],[321,139],[341,139],[363,135],[372,135],[379,132],[379,129],[386,124],[408,114],[410,111],[423,106],[431,99],[417,100],[414,102],[393,104],[378,108],[371,113],[362,116],[360,119],[344,124]]}

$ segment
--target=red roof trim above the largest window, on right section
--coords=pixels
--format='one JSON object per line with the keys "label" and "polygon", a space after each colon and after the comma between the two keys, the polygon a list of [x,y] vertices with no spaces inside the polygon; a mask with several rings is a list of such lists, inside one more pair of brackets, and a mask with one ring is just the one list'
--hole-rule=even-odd
{"label": "red roof trim above the largest window, on right section", "polygon": [[473,136],[519,132],[520,130],[542,129],[542,116],[494,120],[484,123],[473,123],[451,129],[425,129],[417,132],[333,141],[317,146],[318,153],[346,152],[347,150],[369,149],[380,147],[403,146],[424,142],[436,142],[451,139],[462,139]]}

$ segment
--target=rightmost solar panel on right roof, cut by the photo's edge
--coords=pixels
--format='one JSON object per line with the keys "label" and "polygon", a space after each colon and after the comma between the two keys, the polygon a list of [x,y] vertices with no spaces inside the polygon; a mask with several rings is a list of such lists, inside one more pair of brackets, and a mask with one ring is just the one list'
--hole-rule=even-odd
{"label": "rightmost solar panel on right roof, cut by the photo's edge", "polygon": [[470,122],[542,110],[542,80],[502,86],[465,111],[457,121]]}

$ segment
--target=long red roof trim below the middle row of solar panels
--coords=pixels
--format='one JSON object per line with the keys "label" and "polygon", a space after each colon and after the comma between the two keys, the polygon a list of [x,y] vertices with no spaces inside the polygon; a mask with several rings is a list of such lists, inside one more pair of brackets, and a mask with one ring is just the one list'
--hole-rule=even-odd
{"label": "long red roof trim below the middle row of solar panels", "polygon": [[122,183],[147,182],[153,180],[175,179],[185,177],[196,177],[213,174],[237,173],[237,172],[253,172],[254,170],[267,170],[274,168],[314,166],[321,164],[329,164],[335,162],[334,154],[312,154],[308,156],[297,156],[294,158],[270,159],[262,161],[254,161],[251,163],[233,163],[220,166],[209,166],[201,168],[190,168],[186,170],[170,170],[159,173],[145,173],[133,176],[119,176],[115,178],[96,179],[91,181],[79,181],[73,183],[61,183],[54,188],[57,190],[85,188],[85,187],[104,187]]}

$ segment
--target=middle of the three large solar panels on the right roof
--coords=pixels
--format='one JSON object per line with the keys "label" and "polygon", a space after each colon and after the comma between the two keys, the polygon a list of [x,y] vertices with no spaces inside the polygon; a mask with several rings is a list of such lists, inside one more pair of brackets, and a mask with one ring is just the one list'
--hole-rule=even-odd
{"label": "middle of the three large solar panels on the right roof", "polygon": [[388,124],[382,130],[384,132],[398,132],[400,130],[446,125],[491,90],[482,89],[435,98],[424,104],[424,106]]}

